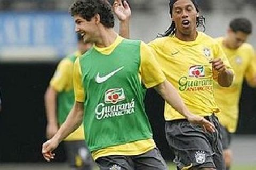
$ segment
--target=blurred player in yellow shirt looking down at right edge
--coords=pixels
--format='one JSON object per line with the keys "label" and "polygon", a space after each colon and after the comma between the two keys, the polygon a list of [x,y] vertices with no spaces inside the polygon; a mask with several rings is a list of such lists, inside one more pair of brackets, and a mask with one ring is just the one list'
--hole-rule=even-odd
{"label": "blurred player in yellow shirt looking down at right edge", "polygon": [[246,18],[233,19],[225,37],[217,38],[229,63],[234,69],[235,79],[229,88],[214,85],[214,97],[220,108],[216,114],[221,124],[222,145],[226,169],[231,166],[231,133],[236,131],[239,98],[244,78],[250,86],[256,86],[256,61],[253,47],[245,43],[252,32],[252,24]]}

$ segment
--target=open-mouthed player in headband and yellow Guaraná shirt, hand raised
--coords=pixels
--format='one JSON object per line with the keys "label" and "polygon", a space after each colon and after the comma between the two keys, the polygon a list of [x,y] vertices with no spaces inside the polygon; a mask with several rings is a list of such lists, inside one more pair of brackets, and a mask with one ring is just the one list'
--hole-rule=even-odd
{"label": "open-mouthed player in headband and yellow Guaran\u00e1 shirt, hand raised", "polygon": [[[129,33],[129,6],[114,2],[114,11]],[[220,125],[215,114],[219,112],[213,95],[213,81],[229,87],[233,70],[223,50],[210,36],[196,30],[204,24],[194,0],[171,0],[169,3],[172,24],[160,37],[149,43],[167,80],[185,101],[190,111],[206,117],[215,124],[217,132],[204,130],[184,119],[172,106],[165,103],[166,138],[174,150],[178,169],[225,169]]]}

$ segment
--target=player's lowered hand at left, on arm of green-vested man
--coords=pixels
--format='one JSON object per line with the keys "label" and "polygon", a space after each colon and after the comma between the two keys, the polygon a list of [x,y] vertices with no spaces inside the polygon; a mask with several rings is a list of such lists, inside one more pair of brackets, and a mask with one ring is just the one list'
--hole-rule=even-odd
{"label": "player's lowered hand at left, on arm of green-vested man", "polygon": [[51,159],[54,159],[55,154],[52,151],[56,149],[58,145],[59,142],[54,137],[43,143],[42,154],[48,162],[50,162]]}

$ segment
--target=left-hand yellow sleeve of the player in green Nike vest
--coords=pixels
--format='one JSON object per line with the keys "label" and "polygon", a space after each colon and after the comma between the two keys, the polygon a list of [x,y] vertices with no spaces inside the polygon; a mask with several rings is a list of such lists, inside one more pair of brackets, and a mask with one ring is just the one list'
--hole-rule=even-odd
{"label": "left-hand yellow sleeve of the player in green Nike vest", "polygon": [[83,88],[83,84],[82,84],[82,71],[81,71],[79,57],[76,58],[76,61],[74,64],[73,84],[74,84],[75,100],[78,102],[84,102],[85,89]]}

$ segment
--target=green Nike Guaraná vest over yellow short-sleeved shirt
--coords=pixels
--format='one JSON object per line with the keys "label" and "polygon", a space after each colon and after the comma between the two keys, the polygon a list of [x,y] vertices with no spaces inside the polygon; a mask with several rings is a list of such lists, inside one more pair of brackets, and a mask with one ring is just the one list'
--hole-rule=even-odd
{"label": "green Nike Guaran\u00e1 vest over yellow short-sleeved shirt", "polygon": [[146,88],[165,80],[150,48],[117,36],[77,58],[75,99],[84,103],[84,133],[94,159],[139,155],[156,147],[143,100]]}

